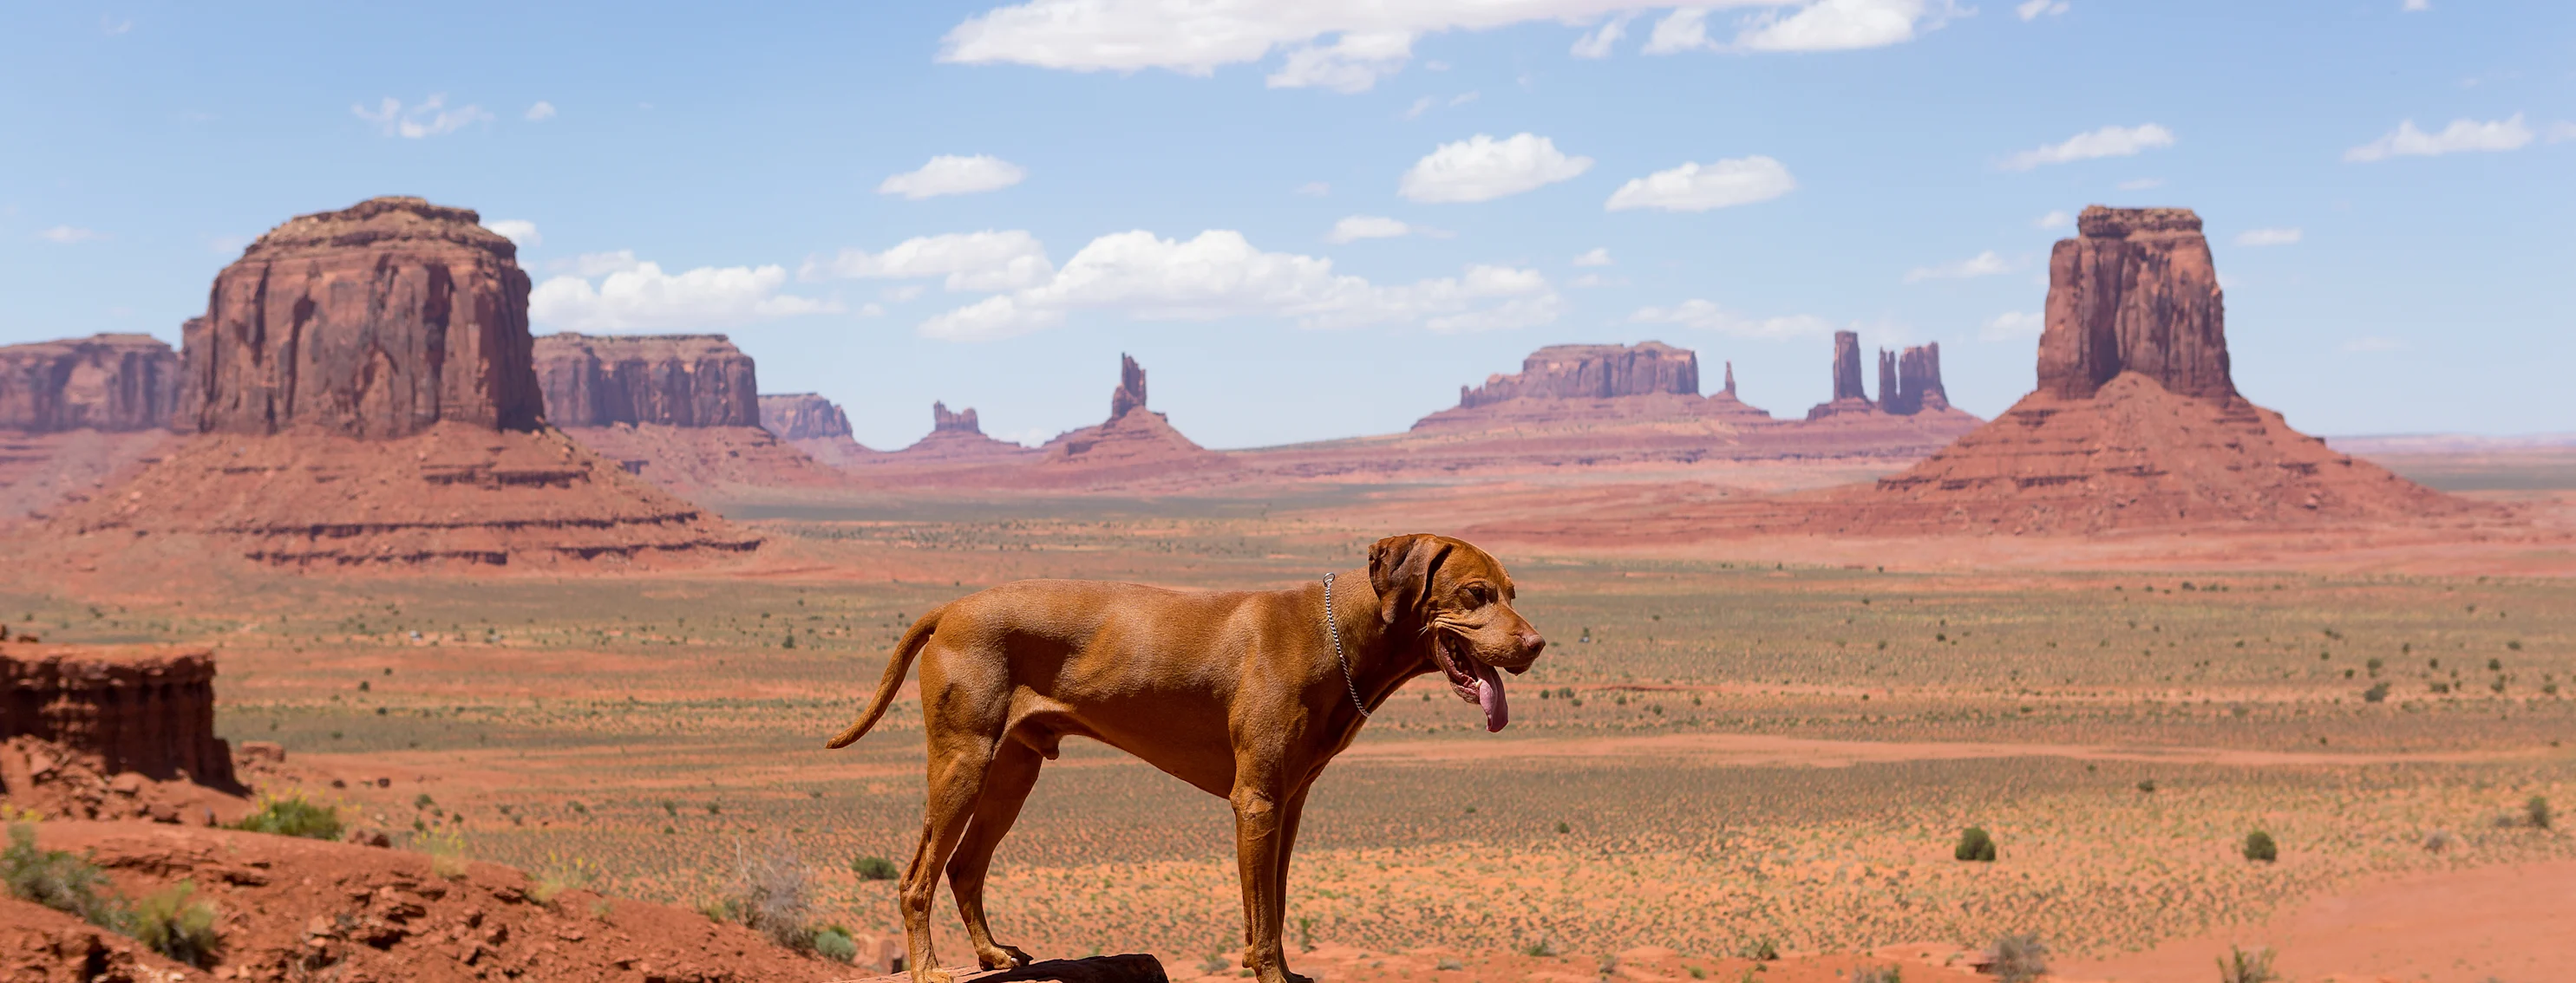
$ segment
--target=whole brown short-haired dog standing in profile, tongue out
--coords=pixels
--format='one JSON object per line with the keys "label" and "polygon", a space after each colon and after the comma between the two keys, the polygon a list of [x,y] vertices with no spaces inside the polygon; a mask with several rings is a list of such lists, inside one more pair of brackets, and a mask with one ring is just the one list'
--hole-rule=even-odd
{"label": "whole brown short-haired dog standing in profile, tongue out", "polygon": [[[1324,628],[1327,584],[1340,638]],[[1376,710],[1406,679],[1437,669],[1458,697],[1484,708],[1486,731],[1502,731],[1507,705],[1494,669],[1528,672],[1540,648],[1546,641],[1512,610],[1502,564],[1445,535],[1383,538],[1368,548],[1368,576],[1345,571],[1275,592],[1015,582],[912,623],[868,713],[827,746],[868,733],[904,672],[922,661],[930,787],[902,888],[914,983],[951,980],[930,952],[943,865],[976,962],[1028,965],[1028,952],[992,942],[984,872],[1041,759],[1054,759],[1066,736],[1118,746],[1234,803],[1244,965],[1262,983],[1288,983],[1303,980],[1280,950],[1296,821],[1324,762],[1368,723],[1360,705]]]}

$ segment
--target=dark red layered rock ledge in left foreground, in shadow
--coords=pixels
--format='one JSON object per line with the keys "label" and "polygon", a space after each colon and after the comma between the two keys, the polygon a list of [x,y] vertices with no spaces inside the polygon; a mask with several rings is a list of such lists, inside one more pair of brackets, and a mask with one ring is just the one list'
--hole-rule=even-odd
{"label": "dark red layered rock ledge in left foreground, in shadow", "polygon": [[209,651],[10,643],[0,648],[0,741],[54,741],[98,757],[106,775],[185,772],[234,787],[232,749],[214,736]]}

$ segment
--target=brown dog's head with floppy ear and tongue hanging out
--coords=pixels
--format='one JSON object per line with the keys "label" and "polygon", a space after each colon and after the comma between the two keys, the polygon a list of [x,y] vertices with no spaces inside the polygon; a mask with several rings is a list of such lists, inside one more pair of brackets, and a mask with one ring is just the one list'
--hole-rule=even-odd
{"label": "brown dog's head with floppy ear and tongue hanging out", "polygon": [[1484,728],[1502,731],[1510,708],[1502,674],[1530,672],[1548,646],[1528,618],[1512,610],[1512,574],[1466,540],[1412,533],[1368,548],[1368,584],[1378,589],[1378,618],[1430,646],[1432,661],[1461,700],[1484,708]]}

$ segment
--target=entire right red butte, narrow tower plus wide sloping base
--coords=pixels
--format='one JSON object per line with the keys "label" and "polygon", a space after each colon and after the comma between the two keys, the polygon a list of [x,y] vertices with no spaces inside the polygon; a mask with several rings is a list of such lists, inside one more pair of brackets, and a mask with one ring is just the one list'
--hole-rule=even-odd
{"label": "entire right red butte, narrow tower plus wide sloping base", "polygon": [[1821,504],[1839,530],[2421,520],[2476,510],[2290,430],[2228,376],[2200,216],[2089,206],[2048,262],[2038,389],[1955,445]]}

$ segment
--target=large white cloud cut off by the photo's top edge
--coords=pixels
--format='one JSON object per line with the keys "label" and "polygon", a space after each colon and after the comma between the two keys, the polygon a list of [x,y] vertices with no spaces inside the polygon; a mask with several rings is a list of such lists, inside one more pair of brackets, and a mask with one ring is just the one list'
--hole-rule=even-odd
{"label": "large white cloud cut off by the photo's top edge", "polygon": [[[1672,0],[1023,0],[966,18],[940,39],[940,62],[1033,64],[1069,72],[1172,69],[1213,75],[1226,64],[1285,54],[1273,87],[1360,93],[1404,69],[1412,41],[1440,31],[1489,31],[1556,21],[1584,26],[1577,57],[1607,54],[1638,10],[1672,10]],[[1765,8],[1749,15],[1728,51],[1826,51],[1901,44],[1958,15],[1953,0],[1708,0],[1703,8]],[[1656,33],[1672,33],[1664,18]],[[1708,46],[1705,28],[1698,44]],[[1664,46],[1669,54],[1687,46]],[[1437,62],[1425,67],[1440,67]]]}

